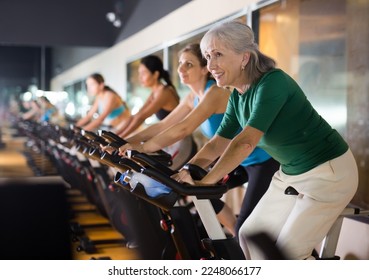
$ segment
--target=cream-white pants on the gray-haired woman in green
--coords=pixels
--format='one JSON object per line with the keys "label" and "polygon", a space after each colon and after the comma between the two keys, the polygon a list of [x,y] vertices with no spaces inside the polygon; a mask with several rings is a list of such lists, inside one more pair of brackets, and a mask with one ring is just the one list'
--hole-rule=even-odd
{"label": "cream-white pants on the gray-haired woman in green", "polygon": [[[299,195],[286,195],[288,186]],[[281,170],[240,229],[247,259],[263,259],[247,236],[269,234],[289,259],[308,258],[351,201],[358,187],[358,170],[350,150],[342,156],[295,176]]]}

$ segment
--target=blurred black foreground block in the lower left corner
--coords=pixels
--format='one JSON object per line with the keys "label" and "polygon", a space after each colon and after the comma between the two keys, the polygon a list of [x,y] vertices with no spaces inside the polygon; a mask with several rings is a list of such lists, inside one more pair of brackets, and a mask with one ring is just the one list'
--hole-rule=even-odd
{"label": "blurred black foreground block in the lower left corner", "polygon": [[0,179],[0,260],[71,260],[61,177]]}

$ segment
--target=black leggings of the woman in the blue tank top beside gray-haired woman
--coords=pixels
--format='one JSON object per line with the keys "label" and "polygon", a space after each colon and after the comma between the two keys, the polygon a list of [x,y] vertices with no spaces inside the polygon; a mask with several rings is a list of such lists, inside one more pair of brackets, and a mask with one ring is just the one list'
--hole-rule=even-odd
{"label": "black leggings of the woman in the blue tank top beside gray-haired woman", "polygon": [[[237,238],[238,231],[243,222],[251,214],[256,204],[269,188],[272,177],[279,168],[279,163],[271,158],[263,163],[246,166],[244,168],[247,173],[244,175],[245,180],[243,180],[243,182],[240,181],[240,184],[235,186],[237,187],[248,182],[246,193],[242,201],[242,206],[235,227]],[[224,207],[224,202],[220,199],[211,199],[211,203],[214,207],[215,213],[217,214]]]}

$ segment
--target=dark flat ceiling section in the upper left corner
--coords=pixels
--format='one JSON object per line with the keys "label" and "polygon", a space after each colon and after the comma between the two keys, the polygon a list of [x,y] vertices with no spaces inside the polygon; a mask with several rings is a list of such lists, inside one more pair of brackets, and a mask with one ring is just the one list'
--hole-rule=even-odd
{"label": "dark flat ceiling section in the upper left corner", "polygon": [[0,0],[0,44],[111,46],[120,33],[106,19],[128,20],[140,0]]}

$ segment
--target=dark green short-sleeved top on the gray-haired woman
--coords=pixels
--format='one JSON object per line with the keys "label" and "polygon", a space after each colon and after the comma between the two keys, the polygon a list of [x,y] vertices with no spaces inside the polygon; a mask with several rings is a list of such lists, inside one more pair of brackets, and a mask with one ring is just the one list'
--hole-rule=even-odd
{"label": "dark green short-sleeved top on the gray-haired woman", "polygon": [[232,139],[239,127],[264,132],[258,147],[298,175],[344,154],[348,145],[280,69],[264,74],[244,94],[233,91],[217,134]]}

